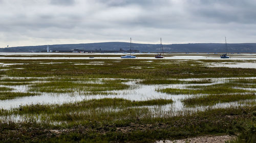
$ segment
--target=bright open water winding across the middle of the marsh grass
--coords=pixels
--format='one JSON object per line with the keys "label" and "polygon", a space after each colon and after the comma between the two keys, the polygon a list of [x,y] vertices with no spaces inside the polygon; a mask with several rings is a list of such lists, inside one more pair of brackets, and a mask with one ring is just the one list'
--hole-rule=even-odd
{"label": "bright open water winding across the middle of the marsh grass", "polygon": [[[209,78],[207,78],[209,79]],[[195,95],[171,95],[166,93],[157,92],[157,89],[165,89],[165,88],[174,88],[174,89],[184,89],[187,85],[211,85],[217,83],[223,83],[225,80],[228,79],[239,79],[239,78],[210,78],[213,83],[205,83],[205,84],[158,84],[158,85],[143,85],[143,84],[136,84],[134,81],[124,82],[125,84],[131,85],[132,89],[128,90],[119,90],[119,91],[110,91],[110,95],[84,95],[83,93],[42,93],[38,96],[31,96],[31,97],[22,97],[12,100],[0,100],[0,108],[10,109],[12,107],[18,107],[19,105],[26,105],[26,104],[63,104],[69,102],[76,102],[82,100],[89,100],[89,99],[101,99],[101,98],[123,98],[135,101],[144,101],[144,100],[151,100],[151,99],[173,99],[174,105],[173,108],[182,110],[183,104],[181,103],[181,99],[186,97],[193,97]],[[245,79],[256,79],[256,77],[249,77]],[[205,80],[205,78],[188,78],[182,80]],[[15,85],[15,86],[5,86],[14,88],[14,92],[27,92],[29,90],[29,85]],[[4,87],[0,85],[0,87]],[[111,94],[115,93],[115,94]],[[229,103],[225,103],[229,104]],[[221,104],[222,105],[222,104]],[[223,104],[224,105],[224,104]]]}

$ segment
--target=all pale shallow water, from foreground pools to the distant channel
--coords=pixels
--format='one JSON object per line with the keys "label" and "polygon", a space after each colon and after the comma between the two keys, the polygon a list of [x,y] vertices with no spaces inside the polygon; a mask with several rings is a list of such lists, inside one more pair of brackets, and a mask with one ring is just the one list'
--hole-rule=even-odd
{"label": "all pale shallow water, from foreground pools to the distant channel", "polygon": [[[0,53],[0,55],[38,55],[38,57],[5,57],[0,56],[0,59],[14,59],[14,60],[35,60],[35,59],[54,59],[54,60],[92,60],[89,57],[61,57],[62,53],[50,53],[50,54],[57,54],[58,57],[39,57],[39,55],[46,55],[49,53]],[[65,53],[67,54],[67,53]],[[152,53],[150,53],[152,54]],[[74,55],[71,53],[70,55]],[[80,55],[80,54],[79,54]],[[100,55],[100,54],[98,54]],[[113,53],[111,53],[113,55]],[[95,57],[96,59],[114,59],[113,63],[120,62],[123,59],[120,58],[122,53],[115,53],[116,57]],[[146,59],[148,61],[143,61],[145,63],[152,63],[155,60],[153,57],[138,57],[136,59]],[[136,60],[130,59],[130,60]],[[256,54],[243,54],[243,55],[233,55],[230,59],[221,59],[219,55],[172,55],[167,54],[164,60],[176,60],[175,62],[184,62],[189,60],[194,60],[194,62],[200,62],[204,64],[206,67],[229,67],[229,68],[254,68],[256,69]],[[219,63],[204,63],[200,60],[221,60],[223,62]],[[250,62],[248,62],[249,60]],[[237,62],[236,62],[237,61]],[[26,63],[23,63],[26,64]],[[39,63],[39,64],[61,64],[61,63]],[[172,64],[172,63],[162,63],[164,65]],[[12,65],[22,65],[21,63],[1,63],[0,62],[0,70],[11,70],[11,69],[1,69],[1,67],[8,68]],[[93,61],[87,64],[82,63],[74,63],[74,65],[105,65],[105,62],[100,61]],[[141,67],[130,67],[131,69],[141,68]],[[154,68],[154,67],[147,67],[147,68]],[[15,77],[16,78],[16,77]],[[22,78],[22,77],[21,77]],[[26,77],[30,78],[30,77]],[[32,78],[32,77],[31,77]],[[34,77],[33,77],[34,78]],[[193,96],[200,96],[200,95],[173,95],[173,94],[166,94],[157,92],[158,89],[165,89],[165,88],[173,88],[173,89],[185,89],[187,85],[211,85],[211,84],[218,84],[224,83],[225,80],[229,79],[240,79],[240,78],[186,78],[180,80],[187,80],[187,81],[194,81],[194,80],[210,80],[212,83],[205,83],[205,84],[153,84],[153,85],[145,85],[145,84],[138,84],[136,83],[140,79],[130,79],[128,82],[124,82],[124,84],[131,85],[130,89],[127,90],[118,90],[118,91],[109,91],[109,95],[90,95],[84,94],[83,92],[74,92],[74,93],[41,93],[37,96],[30,96],[30,97],[21,97],[11,100],[0,100],[0,108],[3,109],[11,109],[18,107],[20,105],[30,105],[30,104],[63,104],[63,103],[73,103],[82,100],[90,100],[90,99],[101,99],[101,98],[123,98],[128,99],[131,101],[145,101],[151,99],[172,99],[174,103],[166,104],[161,106],[146,106],[156,112],[156,116],[161,115],[168,115],[175,116],[180,115],[186,112],[195,112],[195,111],[203,111],[207,108],[221,108],[221,107],[230,107],[230,106],[243,106],[240,102],[228,102],[228,103],[218,103],[212,106],[197,106],[197,107],[185,107],[181,102],[184,98],[189,98]],[[256,77],[248,77],[243,79],[256,79]],[[32,81],[34,82],[34,81]],[[32,83],[31,82],[31,83]],[[38,81],[35,81],[38,82]],[[15,89],[13,92],[28,92],[29,85],[15,85],[15,86],[7,86],[7,85],[0,85],[0,87],[9,87]],[[246,89],[251,91],[256,91],[255,89]]]}

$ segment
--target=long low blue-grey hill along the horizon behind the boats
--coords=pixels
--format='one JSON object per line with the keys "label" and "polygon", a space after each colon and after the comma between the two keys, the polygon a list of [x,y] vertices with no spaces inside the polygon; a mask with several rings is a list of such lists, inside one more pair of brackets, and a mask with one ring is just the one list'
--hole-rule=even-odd
{"label": "long low blue-grey hill along the horizon behind the boats", "polygon": [[[129,50],[130,43],[126,42],[103,42],[88,44],[59,44],[49,45],[50,50],[72,51],[80,50]],[[223,43],[195,43],[195,44],[170,44],[163,45],[164,52],[225,52]],[[47,45],[40,46],[22,46],[0,48],[0,52],[44,52]],[[160,52],[160,44],[132,44],[132,49],[140,52]],[[256,53],[256,43],[228,44],[228,52]]]}

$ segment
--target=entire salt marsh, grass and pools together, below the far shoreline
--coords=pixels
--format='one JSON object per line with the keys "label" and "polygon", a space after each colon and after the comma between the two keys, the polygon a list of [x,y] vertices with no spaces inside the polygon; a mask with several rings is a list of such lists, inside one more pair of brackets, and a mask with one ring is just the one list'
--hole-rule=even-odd
{"label": "entire salt marsh, grass and pools together, below the far shoreline", "polygon": [[[239,115],[236,120],[247,123],[245,119],[255,110],[254,54],[233,55],[227,60],[208,54],[172,53],[161,60],[152,54],[140,54],[133,60],[121,59],[122,54],[96,54],[94,59],[82,54],[19,54],[1,53],[0,57],[0,122],[5,126],[32,122],[31,126],[45,130],[73,130],[97,122],[96,128],[121,126],[134,133],[138,131],[135,124],[148,125],[151,128],[139,131],[154,136],[143,130],[159,131],[159,126],[172,125],[177,128],[164,131],[188,131],[195,136],[215,134],[212,128],[226,133],[223,126],[231,119],[220,120],[223,113]],[[196,122],[192,124],[190,118]],[[234,124],[229,129],[237,131]],[[198,128],[204,125],[204,130]],[[95,131],[92,128],[90,132]],[[169,135],[163,134],[163,138],[169,139]]]}

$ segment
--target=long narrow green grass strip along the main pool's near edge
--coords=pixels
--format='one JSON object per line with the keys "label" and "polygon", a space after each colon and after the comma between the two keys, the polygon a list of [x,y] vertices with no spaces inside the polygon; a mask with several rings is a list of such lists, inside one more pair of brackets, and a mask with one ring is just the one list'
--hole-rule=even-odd
{"label": "long narrow green grass strip along the main pool's near edge", "polygon": [[153,99],[147,101],[131,101],[122,98],[103,98],[103,99],[92,99],[84,100],[75,103],[65,103],[59,104],[32,104],[20,106],[19,108],[12,109],[9,113],[23,115],[26,113],[56,113],[56,112],[72,112],[72,111],[82,111],[87,109],[96,108],[126,108],[132,106],[147,106],[147,105],[164,105],[173,103],[172,99]]}

